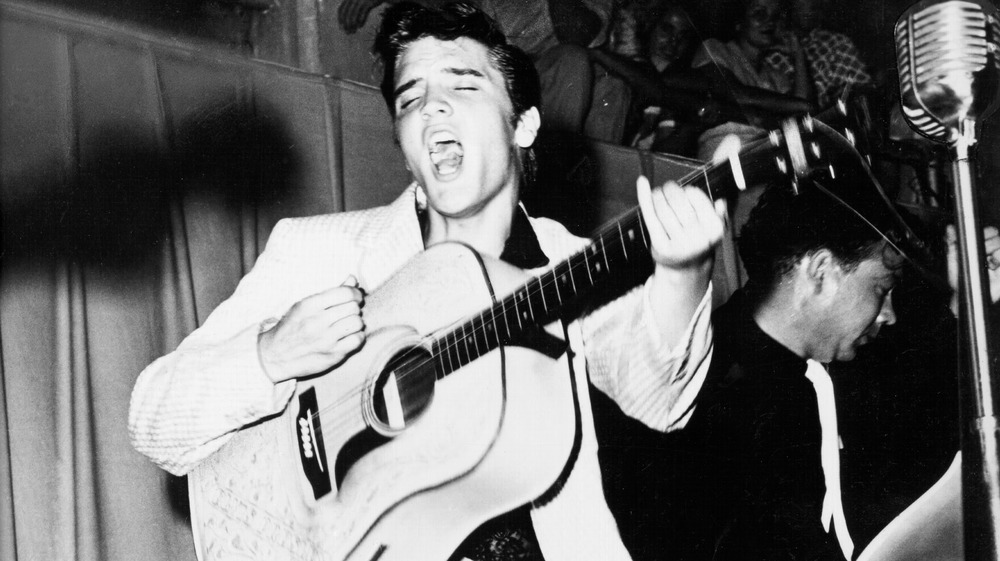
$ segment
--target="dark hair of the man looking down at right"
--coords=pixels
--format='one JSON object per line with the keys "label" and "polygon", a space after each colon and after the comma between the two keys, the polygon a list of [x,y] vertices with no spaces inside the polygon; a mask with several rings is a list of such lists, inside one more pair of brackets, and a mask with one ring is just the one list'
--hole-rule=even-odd
{"label": "dark hair of the man looking down at right", "polygon": [[740,230],[743,265],[753,288],[764,293],[811,252],[828,249],[852,269],[882,248],[881,234],[814,183],[802,181],[799,191],[768,186]]}

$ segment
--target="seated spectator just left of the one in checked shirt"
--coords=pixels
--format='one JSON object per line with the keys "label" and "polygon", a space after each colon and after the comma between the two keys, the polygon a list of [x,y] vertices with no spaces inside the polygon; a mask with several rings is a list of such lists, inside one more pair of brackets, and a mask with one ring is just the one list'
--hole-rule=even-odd
{"label": "seated spectator just left of the one in checked shirt", "polygon": [[[730,121],[709,129],[698,141],[698,156],[707,160],[722,139],[735,134],[741,141],[759,137],[774,126],[774,117],[801,113],[811,106],[812,83],[806,69],[805,53],[794,34],[782,32],[787,10],[782,0],[740,0],[736,36],[728,42],[706,39],[694,55],[692,66],[715,68],[731,85],[743,85],[789,96],[785,104],[754,107],[743,104],[745,122]],[[779,71],[765,58],[775,50],[791,54],[793,72]],[[796,99],[798,102],[796,102]]]}

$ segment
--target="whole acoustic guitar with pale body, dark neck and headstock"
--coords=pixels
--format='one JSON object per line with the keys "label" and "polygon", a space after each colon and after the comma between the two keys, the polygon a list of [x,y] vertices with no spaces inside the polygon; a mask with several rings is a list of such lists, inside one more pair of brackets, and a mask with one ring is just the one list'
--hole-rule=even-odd
{"label": "whole acoustic guitar with pale body, dark neck and headstock", "polygon": [[[681,183],[713,194],[858,159],[821,122],[789,121]],[[428,248],[365,303],[367,340],[301,380],[189,478],[203,561],[448,559],[482,523],[552,497],[580,411],[563,319],[621,275],[648,275],[638,209],[534,278],[460,244]]]}

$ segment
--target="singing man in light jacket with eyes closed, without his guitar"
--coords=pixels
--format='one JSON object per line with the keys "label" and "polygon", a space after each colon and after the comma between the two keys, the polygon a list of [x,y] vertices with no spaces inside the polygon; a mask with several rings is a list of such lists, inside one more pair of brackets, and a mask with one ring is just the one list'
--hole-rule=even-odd
{"label": "singing man in light jacket with eyes closed, without his guitar", "polygon": [[[386,11],[375,50],[413,183],[385,207],[279,223],[233,296],[136,382],[133,444],[171,473],[190,474],[203,560],[272,559],[291,547],[265,555],[259,539],[233,538],[240,522],[202,518],[219,497],[206,483],[205,466],[242,444],[235,435],[275,422],[301,379],[337,378],[345,360],[370,341],[362,315],[366,295],[444,242],[531,273],[586,245],[519,204],[540,124],[538,77],[492,20],[465,4],[440,10],[395,5]],[[642,286],[567,318],[566,356],[577,387],[589,380],[629,415],[666,431],[687,422],[707,372],[709,278],[725,209],[693,188],[668,183],[651,190],[645,179],[637,187],[654,271]],[[501,539],[485,547],[470,540],[461,555],[628,558],[605,504],[585,390],[579,400],[579,450],[558,494],[530,514],[525,508],[505,517],[490,534]],[[253,500],[242,500],[244,506],[255,512]],[[338,530],[320,533],[333,539]],[[323,557],[325,547],[315,556]]]}

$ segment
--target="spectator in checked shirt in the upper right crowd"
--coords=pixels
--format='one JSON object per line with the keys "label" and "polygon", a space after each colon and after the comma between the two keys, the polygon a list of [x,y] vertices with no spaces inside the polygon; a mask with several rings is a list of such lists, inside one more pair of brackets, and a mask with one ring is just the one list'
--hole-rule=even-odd
{"label": "spectator in checked shirt in the upper right crowd", "polygon": [[812,97],[821,110],[846,97],[856,86],[871,84],[861,54],[849,37],[820,27],[830,16],[828,0],[793,0],[792,28],[786,32],[786,45],[798,42],[799,48],[779,49],[766,57],[768,65],[787,75],[798,74],[799,56],[805,55],[807,74],[812,79]]}

